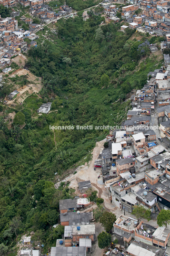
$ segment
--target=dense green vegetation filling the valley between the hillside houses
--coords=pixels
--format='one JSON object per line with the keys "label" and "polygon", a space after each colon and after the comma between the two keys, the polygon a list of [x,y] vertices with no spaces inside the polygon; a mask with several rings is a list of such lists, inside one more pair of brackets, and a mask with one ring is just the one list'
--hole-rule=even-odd
{"label": "dense green vegetation filling the valley between the hillside houses", "polygon": [[[32,230],[35,240],[45,245],[44,253],[55,244],[62,234],[62,227],[51,228],[59,220],[59,200],[74,197],[74,190],[65,182],[55,189],[54,183],[69,168],[75,170],[90,159],[96,141],[109,132],[96,126],[119,125],[126,118],[130,109],[126,95],[141,88],[157,64],[146,36],[140,42],[130,40],[134,31],[124,34],[120,24],[113,23],[99,27],[103,20],[90,12],[87,21],[60,19],[57,32],[46,26],[27,63],[34,75],[42,77],[40,95],[28,96],[15,108],[0,105],[0,246],[7,246],[4,250]],[[10,93],[12,83],[28,83],[27,76],[20,80],[7,76],[5,81],[1,98]],[[46,102],[52,102],[50,114],[38,115],[36,110]],[[25,118],[24,128],[18,117],[13,125],[6,122],[13,111],[24,115],[17,114]],[[77,125],[93,129],[49,129]],[[91,199],[96,200],[95,193]]]}

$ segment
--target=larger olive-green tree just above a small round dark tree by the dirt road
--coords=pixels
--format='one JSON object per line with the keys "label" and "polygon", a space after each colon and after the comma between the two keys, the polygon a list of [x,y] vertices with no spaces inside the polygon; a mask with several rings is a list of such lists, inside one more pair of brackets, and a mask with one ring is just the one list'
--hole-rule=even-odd
{"label": "larger olive-green tree just above a small round dark tree by the dirt road", "polygon": [[114,213],[104,212],[100,218],[100,223],[104,227],[106,232],[110,232],[115,221],[116,215]]}

